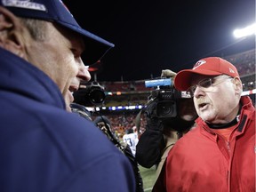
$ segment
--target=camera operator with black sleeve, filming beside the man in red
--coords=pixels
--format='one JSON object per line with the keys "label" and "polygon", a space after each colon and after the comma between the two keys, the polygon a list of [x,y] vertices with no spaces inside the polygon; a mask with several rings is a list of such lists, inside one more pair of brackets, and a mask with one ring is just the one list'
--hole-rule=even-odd
{"label": "camera operator with black sleeve, filming beside the man in red", "polygon": [[[172,79],[175,75],[171,70],[163,70],[161,76]],[[171,100],[163,101],[159,96],[149,100],[144,110],[147,118],[146,131],[142,133],[136,146],[136,158],[141,166],[150,168],[156,165],[156,180],[169,150],[195,124],[197,117],[193,99],[189,95],[183,98],[181,92],[172,85],[168,89],[172,90],[169,92]]]}

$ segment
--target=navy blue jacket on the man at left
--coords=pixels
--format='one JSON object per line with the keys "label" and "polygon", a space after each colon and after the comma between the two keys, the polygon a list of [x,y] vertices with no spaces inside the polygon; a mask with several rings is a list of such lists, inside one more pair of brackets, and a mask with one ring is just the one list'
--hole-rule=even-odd
{"label": "navy blue jacket on the man at left", "polygon": [[65,110],[41,70],[0,48],[0,191],[132,192],[132,166],[98,128]]}

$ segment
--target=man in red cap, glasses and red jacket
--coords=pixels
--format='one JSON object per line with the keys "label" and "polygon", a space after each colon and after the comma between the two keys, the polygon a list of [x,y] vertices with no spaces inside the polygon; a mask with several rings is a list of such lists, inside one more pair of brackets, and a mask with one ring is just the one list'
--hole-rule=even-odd
{"label": "man in red cap, glasses and red jacket", "polygon": [[174,86],[193,97],[196,127],[168,154],[166,191],[255,191],[255,108],[236,67],[209,57],[181,70]]}

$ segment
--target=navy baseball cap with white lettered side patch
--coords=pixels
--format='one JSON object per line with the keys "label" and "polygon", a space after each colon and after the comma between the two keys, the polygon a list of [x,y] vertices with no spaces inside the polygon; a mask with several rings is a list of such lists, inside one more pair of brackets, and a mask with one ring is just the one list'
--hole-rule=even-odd
{"label": "navy baseball cap with white lettered side patch", "polygon": [[81,28],[61,0],[0,0],[0,6],[19,17],[56,22],[84,36],[85,51],[82,59],[85,65],[97,62],[115,46]]}

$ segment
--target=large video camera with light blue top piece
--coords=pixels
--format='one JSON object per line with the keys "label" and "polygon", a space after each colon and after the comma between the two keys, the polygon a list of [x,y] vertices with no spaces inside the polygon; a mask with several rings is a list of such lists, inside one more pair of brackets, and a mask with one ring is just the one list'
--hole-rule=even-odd
{"label": "large video camera with light blue top piece", "polygon": [[177,100],[190,98],[186,92],[180,92],[173,87],[172,78],[158,78],[145,81],[146,87],[155,88],[148,96],[149,102],[155,103],[154,111],[157,118],[165,119],[178,115]]}

